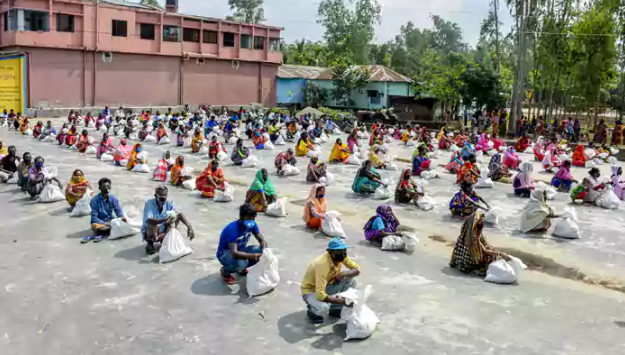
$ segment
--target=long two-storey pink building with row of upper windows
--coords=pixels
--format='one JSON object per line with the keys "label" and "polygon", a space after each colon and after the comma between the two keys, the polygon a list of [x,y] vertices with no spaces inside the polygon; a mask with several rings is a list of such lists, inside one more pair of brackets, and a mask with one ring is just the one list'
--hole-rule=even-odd
{"label": "long two-storey pink building with row of upper windows", "polygon": [[0,50],[25,53],[28,107],[275,105],[282,29],[177,3],[1,0]]}

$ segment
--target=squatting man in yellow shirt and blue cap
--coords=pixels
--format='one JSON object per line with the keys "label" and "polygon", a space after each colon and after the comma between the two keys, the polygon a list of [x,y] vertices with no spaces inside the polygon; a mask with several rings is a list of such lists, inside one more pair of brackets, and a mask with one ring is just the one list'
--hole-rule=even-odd
{"label": "squatting man in yellow shirt and blue cap", "polygon": [[[356,287],[354,277],[360,275],[360,267],[347,257],[347,248],[342,239],[334,238],[327,251],[308,265],[302,280],[302,296],[313,323],[323,323],[328,310],[330,316],[340,317],[341,309],[347,304],[345,299],[333,295]],[[341,265],[349,270],[342,271]]]}

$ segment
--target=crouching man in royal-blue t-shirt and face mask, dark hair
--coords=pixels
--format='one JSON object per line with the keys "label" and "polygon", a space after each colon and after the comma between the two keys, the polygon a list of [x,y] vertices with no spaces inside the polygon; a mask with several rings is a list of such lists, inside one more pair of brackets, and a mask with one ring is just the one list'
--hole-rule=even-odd
{"label": "crouching man in royal-blue t-shirt and face mask, dark hair", "polygon": [[[256,208],[246,203],[239,208],[239,219],[228,224],[221,231],[217,259],[223,265],[221,276],[228,285],[235,283],[233,273],[247,275],[247,268],[258,262],[263,249],[267,247],[267,242],[256,224],[256,214]],[[247,245],[252,234],[260,246]]]}

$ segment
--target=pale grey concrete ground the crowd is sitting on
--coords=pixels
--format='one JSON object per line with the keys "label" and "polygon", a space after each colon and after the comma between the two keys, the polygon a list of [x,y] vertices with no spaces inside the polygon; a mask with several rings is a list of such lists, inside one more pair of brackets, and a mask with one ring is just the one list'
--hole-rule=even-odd
{"label": "pale grey concrete ground the crowd is sitting on", "polygon": [[[123,206],[141,209],[157,186],[151,175],[130,173],[6,128],[0,129],[0,140],[16,145],[20,155],[30,151],[43,156],[48,166],[59,168],[63,183],[78,167],[94,184],[101,177],[111,178],[113,193]],[[397,143],[390,146],[393,154],[411,153]],[[196,170],[206,165],[189,149],[144,147],[152,166],[165,149],[184,154]],[[349,342],[342,340],[345,325],[340,321],[309,324],[299,284],[308,262],[325,250],[328,238],[304,228],[301,212],[310,185],[303,174],[275,176],[276,153],[254,152],[261,166],[269,169],[278,194],[289,199],[287,218],[258,218],[280,259],[282,282],[272,293],[252,299],[245,291],[245,278],[238,277],[238,284],[231,287],[222,283],[215,252],[220,231],[236,219],[255,169],[224,167],[236,188],[233,203],[217,204],[197,192],[170,189],[170,197],[192,221],[196,239],[191,242],[193,254],[164,265],[158,264],[157,255],[145,255],[139,235],[81,245],[80,238],[89,234],[88,217],[70,218],[64,202],[33,203],[14,185],[0,186],[0,354],[625,351],[625,295],[610,289],[625,284],[620,278],[625,265],[622,210],[577,207],[583,237],[563,242],[518,232],[525,201],[510,196],[511,186],[496,184],[479,191],[503,210],[501,226],[486,230],[489,242],[531,267],[518,285],[489,284],[448,267],[449,242],[458,236],[461,222],[452,220],[447,209],[457,190],[454,177],[440,168],[441,178],[427,185],[437,202],[434,210],[395,208],[402,224],[421,239],[417,252],[406,255],[382,252],[364,241],[362,227],[380,202],[351,192],[356,167],[330,166],[337,182],[326,193],[329,209],[343,214],[343,227],[354,247],[349,254],[362,267],[359,283],[373,285],[369,306],[381,323],[370,339]],[[330,143],[324,145],[323,157],[329,153]],[[435,163],[446,163],[447,156]],[[305,164],[300,159],[299,167]],[[574,173],[582,176],[585,170]],[[383,175],[397,179],[399,172]],[[567,198],[558,196],[553,205],[561,209]]]}

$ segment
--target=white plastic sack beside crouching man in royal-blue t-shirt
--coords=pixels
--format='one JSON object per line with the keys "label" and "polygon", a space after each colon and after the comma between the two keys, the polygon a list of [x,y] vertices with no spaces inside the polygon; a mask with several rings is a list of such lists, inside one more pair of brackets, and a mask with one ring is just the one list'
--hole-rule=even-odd
{"label": "white plastic sack beside crouching man in royal-blue t-shirt", "polygon": [[278,286],[280,272],[278,258],[273,255],[271,249],[263,250],[263,255],[258,263],[249,268],[247,273],[247,294],[250,297],[265,294]]}

